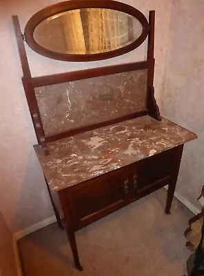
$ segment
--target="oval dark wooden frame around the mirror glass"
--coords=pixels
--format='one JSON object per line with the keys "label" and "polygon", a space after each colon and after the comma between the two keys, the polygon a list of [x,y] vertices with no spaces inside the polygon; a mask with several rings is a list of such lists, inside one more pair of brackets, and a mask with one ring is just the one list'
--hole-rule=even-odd
{"label": "oval dark wooden frame around the mirror glass", "polygon": [[[34,40],[34,30],[39,25],[39,23],[41,23],[41,21],[44,21],[48,17],[52,17],[61,12],[65,12],[68,10],[76,10],[80,8],[107,8],[111,10],[125,12],[126,14],[130,14],[132,15],[132,17],[139,20],[143,27],[143,31],[139,38],[136,39],[134,42],[130,43],[128,46],[124,46],[122,48],[112,50],[109,52],[90,55],[71,55],[55,52],[52,50],[48,50],[43,46],[40,46],[39,43],[37,43],[37,41]],[[54,4],[34,14],[26,24],[24,37],[30,48],[32,48],[32,50],[45,57],[49,57],[51,59],[58,59],[61,61],[96,61],[101,59],[110,59],[112,57],[117,57],[134,50],[135,48],[139,47],[143,43],[143,41],[145,41],[149,30],[150,27],[146,17],[139,10],[136,10],[136,8],[133,8],[132,6],[129,6],[125,3],[120,3],[112,0],[70,0]]]}

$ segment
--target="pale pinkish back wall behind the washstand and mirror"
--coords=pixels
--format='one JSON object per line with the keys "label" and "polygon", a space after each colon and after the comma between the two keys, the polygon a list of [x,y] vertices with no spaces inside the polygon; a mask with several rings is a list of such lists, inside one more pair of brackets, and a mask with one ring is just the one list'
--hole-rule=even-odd
{"label": "pale pinkish back wall behind the washstand and mirror", "polygon": [[[146,16],[149,10],[156,10],[155,88],[156,97],[159,99],[164,77],[172,0],[124,2],[135,6]],[[32,149],[37,140],[21,84],[22,72],[11,15],[17,14],[21,27],[24,28],[32,14],[52,3],[57,1],[0,0],[0,209],[13,233],[52,216],[53,212],[43,175]],[[142,46],[122,57],[90,63],[54,61],[26,48],[33,76],[145,59],[145,47]]]}

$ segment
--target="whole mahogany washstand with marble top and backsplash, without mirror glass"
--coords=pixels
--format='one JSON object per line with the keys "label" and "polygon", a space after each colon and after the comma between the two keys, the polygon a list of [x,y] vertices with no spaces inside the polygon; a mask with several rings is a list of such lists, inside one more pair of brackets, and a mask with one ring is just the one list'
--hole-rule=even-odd
{"label": "whole mahogany washstand with marble top and backsplash, without mirror glass", "polygon": [[[75,1],[70,2],[73,7]],[[124,8],[114,1],[76,2]],[[12,17],[23,86],[39,142],[34,150],[79,270],[76,230],[165,185],[165,212],[170,213],[183,144],[196,138],[162,118],[154,99],[154,16],[151,11],[149,23],[143,26],[148,34],[146,61],[42,77],[31,76],[19,21]],[[39,21],[39,15],[34,19]],[[26,32],[29,39],[28,26]],[[138,43],[128,49],[136,46]],[[127,48],[117,55],[124,50]],[[106,54],[97,54],[97,59],[114,57],[116,52]],[[91,56],[88,60],[96,59]]]}

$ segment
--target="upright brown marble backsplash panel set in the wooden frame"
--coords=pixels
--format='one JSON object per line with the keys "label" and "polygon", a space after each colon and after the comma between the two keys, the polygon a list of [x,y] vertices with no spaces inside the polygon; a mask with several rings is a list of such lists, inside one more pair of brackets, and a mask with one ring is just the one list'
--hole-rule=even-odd
{"label": "upright brown marble backsplash panel set in the wooden frame", "polygon": [[146,110],[147,69],[35,88],[45,135]]}

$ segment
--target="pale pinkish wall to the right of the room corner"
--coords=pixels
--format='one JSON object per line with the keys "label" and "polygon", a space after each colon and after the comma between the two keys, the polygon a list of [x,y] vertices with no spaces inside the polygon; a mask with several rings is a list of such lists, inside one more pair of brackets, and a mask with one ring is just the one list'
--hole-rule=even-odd
{"label": "pale pinkish wall to the right of the room corner", "polygon": [[196,132],[185,146],[177,193],[192,208],[204,185],[204,1],[174,0],[162,115]]}

